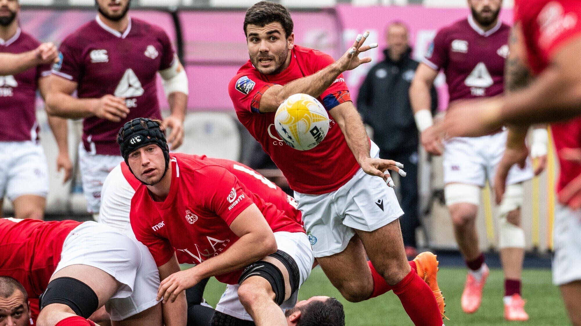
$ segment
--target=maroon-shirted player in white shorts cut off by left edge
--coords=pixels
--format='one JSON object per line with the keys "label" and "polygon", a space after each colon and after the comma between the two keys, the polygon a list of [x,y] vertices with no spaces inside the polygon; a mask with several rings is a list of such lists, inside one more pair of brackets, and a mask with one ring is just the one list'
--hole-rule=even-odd
{"label": "maroon-shirted player in white shorts cut off by left edge", "polygon": [[[0,52],[40,53],[43,45],[20,30],[19,12],[16,0],[0,0]],[[52,61],[46,60],[44,64],[38,59],[35,61],[37,64],[21,73],[0,76],[0,120],[7,122],[0,133],[0,216],[5,196],[12,201],[16,218],[42,219],[44,216],[48,167],[38,143],[36,92],[38,89],[43,98],[48,92]],[[64,181],[69,180],[73,165],[67,145],[66,119],[49,116],[48,123],[59,148],[57,169],[64,169]]]}

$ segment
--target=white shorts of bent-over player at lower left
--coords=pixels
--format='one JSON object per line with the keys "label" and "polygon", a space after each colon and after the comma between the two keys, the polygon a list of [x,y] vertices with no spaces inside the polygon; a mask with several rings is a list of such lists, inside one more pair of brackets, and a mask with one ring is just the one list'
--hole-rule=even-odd
{"label": "white shorts of bent-over player at lower left", "polygon": [[122,284],[105,303],[111,320],[124,320],[157,304],[159,272],[148,248],[109,226],[89,221],[69,233],[54,273],[71,265],[96,267]]}

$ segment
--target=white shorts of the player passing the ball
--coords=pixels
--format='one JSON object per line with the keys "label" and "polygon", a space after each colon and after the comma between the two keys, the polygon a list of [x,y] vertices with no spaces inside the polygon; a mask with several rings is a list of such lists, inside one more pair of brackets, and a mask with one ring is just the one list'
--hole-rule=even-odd
{"label": "white shorts of the player passing the ball", "polygon": [[[373,142],[370,154],[379,158],[379,148]],[[345,250],[355,230],[374,231],[403,215],[393,189],[382,178],[368,175],[361,168],[331,193],[309,195],[295,191],[295,200],[303,213],[304,229],[315,257]]]}

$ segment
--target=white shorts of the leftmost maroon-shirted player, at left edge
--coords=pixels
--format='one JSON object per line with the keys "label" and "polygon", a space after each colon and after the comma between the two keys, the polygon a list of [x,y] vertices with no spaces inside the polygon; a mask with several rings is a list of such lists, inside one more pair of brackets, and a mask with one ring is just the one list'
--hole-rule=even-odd
{"label": "white shorts of the leftmost maroon-shirted player, at left edge", "polygon": [[21,195],[48,195],[48,167],[42,146],[0,142],[0,195],[14,201]]}

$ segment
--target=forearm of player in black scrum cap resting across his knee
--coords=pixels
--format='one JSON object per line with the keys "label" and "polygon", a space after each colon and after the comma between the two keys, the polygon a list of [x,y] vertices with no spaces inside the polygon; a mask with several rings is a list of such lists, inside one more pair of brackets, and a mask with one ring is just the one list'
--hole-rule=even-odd
{"label": "forearm of player in black scrum cap resting across his knee", "polygon": [[242,269],[276,251],[277,243],[274,240],[274,234],[251,232],[240,237],[220,255],[207,259],[192,268],[196,269],[196,274],[200,278],[216,276]]}

